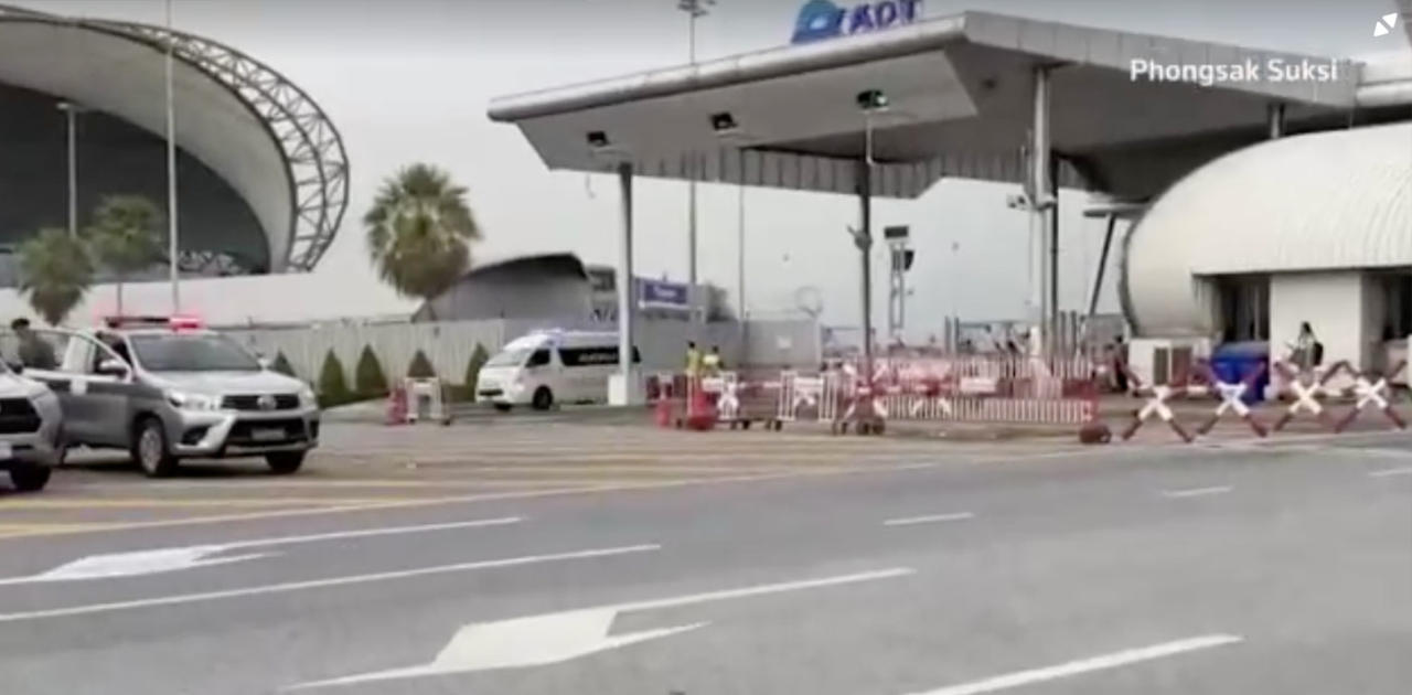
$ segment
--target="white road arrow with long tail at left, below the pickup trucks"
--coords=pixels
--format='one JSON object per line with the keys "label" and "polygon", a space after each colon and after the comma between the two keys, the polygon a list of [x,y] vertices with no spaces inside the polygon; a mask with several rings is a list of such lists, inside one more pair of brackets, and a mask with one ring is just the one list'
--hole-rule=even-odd
{"label": "white road arrow with long tail at left, below the pickup trucks", "polygon": [[339,541],[346,538],[367,538],[374,535],[397,535],[426,531],[449,531],[453,528],[476,528],[486,525],[518,524],[520,517],[480,518],[474,521],[452,521],[446,524],[424,525],[395,525],[385,528],[359,528],[353,531],[335,531],[313,535],[284,535],[275,538],[256,538],[250,541],[236,541],[208,545],[189,545],[184,548],[157,548],[133,552],[112,552],[103,555],[89,555],[73,562],[59,565],[48,572],[31,576],[13,576],[0,579],[0,586],[34,582],[75,582],[83,579],[112,579],[119,576],[154,575],[160,572],[178,572],[210,565],[227,565],[244,559],[268,557],[268,552],[250,555],[236,555],[229,558],[210,558],[220,552],[241,548],[265,548],[271,545],[295,545],[301,542]]}

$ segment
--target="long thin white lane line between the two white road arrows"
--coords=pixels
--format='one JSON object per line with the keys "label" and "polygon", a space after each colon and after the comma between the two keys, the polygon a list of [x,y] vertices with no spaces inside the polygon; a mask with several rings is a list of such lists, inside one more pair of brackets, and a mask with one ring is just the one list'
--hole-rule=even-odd
{"label": "long thin white lane line between the two white road arrows", "polygon": [[354,583],[385,582],[391,579],[409,579],[414,576],[443,575],[450,572],[469,572],[474,569],[497,569],[507,566],[537,565],[542,562],[556,562],[562,559],[592,559],[614,555],[628,555],[634,552],[652,552],[662,550],[661,545],[626,545],[620,548],[599,548],[573,552],[556,552],[549,555],[525,555],[520,558],[483,559],[476,562],[457,562],[455,565],[424,566],[417,569],[400,569],[395,572],[376,572],[369,575],[333,576],[328,579],[311,579],[305,582],[270,583],[264,586],[247,586],[241,589],[227,589],[219,592],[182,593],[176,596],[161,596],[155,599],[121,600],[113,603],[89,603],[85,606],[68,606],[59,609],[31,610],[25,613],[0,614],[0,623],[17,623],[21,620],[40,620],[47,617],[83,616],[90,613],[109,613],[114,610],[130,610],[154,606],[175,606],[182,603],[199,603],[205,600],[234,599],[241,596],[258,596],[264,593],[295,592],[304,589],[321,589],[325,586],[347,586]]}

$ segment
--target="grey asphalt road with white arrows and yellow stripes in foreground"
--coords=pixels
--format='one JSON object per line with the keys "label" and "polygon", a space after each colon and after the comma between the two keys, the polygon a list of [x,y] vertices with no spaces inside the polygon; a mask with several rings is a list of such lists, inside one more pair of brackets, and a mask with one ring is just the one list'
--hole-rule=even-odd
{"label": "grey asphalt road with white arrows and yellow stripes in foreground", "polygon": [[302,480],[68,473],[0,540],[0,692],[1412,691],[1406,435],[435,432],[339,432]]}

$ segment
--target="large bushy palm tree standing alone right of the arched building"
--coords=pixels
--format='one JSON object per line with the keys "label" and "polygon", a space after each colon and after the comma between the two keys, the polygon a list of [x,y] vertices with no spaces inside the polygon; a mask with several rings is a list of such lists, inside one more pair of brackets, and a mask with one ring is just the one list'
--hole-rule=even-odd
{"label": "large bushy palm tree standing alone right of the arched building", "polygon": [[363,225],[378,274],[398,294],[425,299],[428,312],[431,299],[470,267],[470,243],[480,239],[466,188],[428,164],[412,164],[384,181]]}

